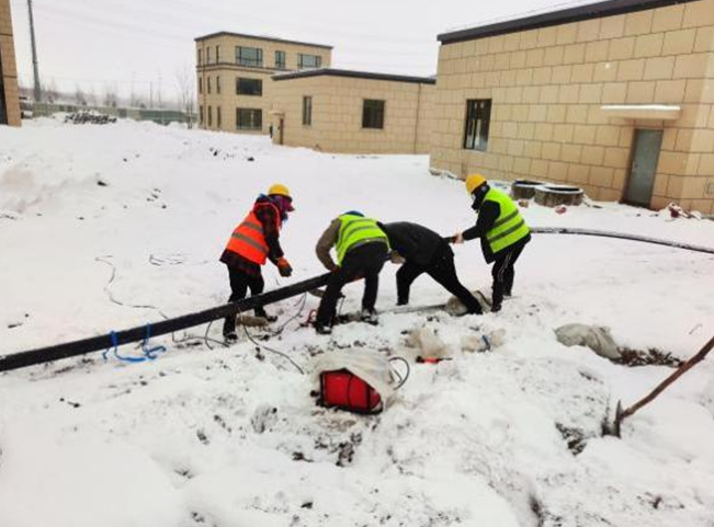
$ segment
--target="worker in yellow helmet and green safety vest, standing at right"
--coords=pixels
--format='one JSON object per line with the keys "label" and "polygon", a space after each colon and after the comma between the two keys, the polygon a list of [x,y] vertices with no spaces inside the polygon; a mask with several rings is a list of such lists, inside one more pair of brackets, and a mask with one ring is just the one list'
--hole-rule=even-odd
{"label": "worker in yellow helmet and green safety vest, standing at right", "polygon": [[518,205],[501,191],[491,188],[480,174],[466,177],[466,190],[473,198],[472,208],[478,213],[476,226],[455,234],[454,243],[480,238],[486,263],[494,263],[491,311],[500,311],[505,296],[511,296],[514,265],[531,231],[518,209]]}

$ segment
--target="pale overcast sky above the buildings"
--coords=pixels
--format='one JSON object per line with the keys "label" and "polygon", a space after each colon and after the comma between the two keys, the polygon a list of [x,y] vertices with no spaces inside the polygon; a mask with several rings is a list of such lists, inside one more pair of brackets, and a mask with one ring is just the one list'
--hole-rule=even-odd
{"label": "pale overcast sky above the buildings", "polygon": [[[563,0],[33,0],[39,73],[64,90],[149,83],[175,94],[194,67],[193,38],[233,31],[335,46],[332,66],[433,75],[437,34],[563,4]],[[18,68],[32,83],[26,0],[11,0]]]}

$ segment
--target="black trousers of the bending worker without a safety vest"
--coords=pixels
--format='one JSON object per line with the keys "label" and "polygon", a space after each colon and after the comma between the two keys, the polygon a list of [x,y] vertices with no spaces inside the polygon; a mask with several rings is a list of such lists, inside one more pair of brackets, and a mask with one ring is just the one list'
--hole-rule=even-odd
{"label": "black trousers of the bending worker without a safety vest", "polygon": [[481,312],[478,300],[458,282],[456,267],[454,266],[454,253],[449,245],[440,248],[434,259],[427,266],[407,261],[399,267],[399,271],[397,271],[397,302],[399,305],[409,302],[409,288],[412,282],[423,273],[427,273],[441,284],[444,289],[458,298],[466,306],[469,313]]}

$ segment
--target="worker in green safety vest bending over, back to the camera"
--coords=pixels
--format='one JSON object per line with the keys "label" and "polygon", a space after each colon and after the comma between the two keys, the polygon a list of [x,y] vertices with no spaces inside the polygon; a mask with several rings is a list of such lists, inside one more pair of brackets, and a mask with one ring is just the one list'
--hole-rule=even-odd
{"label": "worker in green safety vest bending over, back to the camera", "polygon": [[[332,248],[337,253],[337,264],[330,255]],[[340,291],[345,284],[359,278],[364,278],[361,319],[376,324],[374,306],[379,289],[379,272],[389,253],[387,236],[376,220],[365,218],[356,210],[338,216],[318,240],[316,252],[332,275],[317,310],[315,330],[320,334],[331,333]]]}

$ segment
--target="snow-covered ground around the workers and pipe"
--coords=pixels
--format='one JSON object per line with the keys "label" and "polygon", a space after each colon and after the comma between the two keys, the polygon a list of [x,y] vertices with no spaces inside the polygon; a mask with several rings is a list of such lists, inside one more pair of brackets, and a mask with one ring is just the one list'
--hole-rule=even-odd
{"label": "snow-covered ground around the workers and pipe", "polygon": [[[332,156],[129,122],[0,128],[0,355],[225,301],[217,257],[273,182],[295,196],[282,238],[295,274],[280,278],[267,266],[269,288],[321,272],[314,244],[344,210],[444,234],[474,221],[463,184],[429,175],[424,157]],[[534,226],[714,247],[712,221],[599,205],[523,214]],[[478,244],[456,254],[462,279],[487,288]],[[413,364],[379,416],[315,406],[310,378],[250,342],[209,350],[157,339],[168,352],[151,363],[98,353],[1,375],[0,526],[711,527],[712,359],[625,422],[622,439],[601,437],[609,408],[671,369],[615,365],[564,347],[553,330],[608,325],[622,346],[687,357],[712,336],[713,263],[649,244],[542,236],[497,316],[384,313],[376,329],[347,324],[327,337],[299,326],[316,298],[273,307],[279,326],[295,319],[267,344],[301,366],[338,347],[411,357],[405,332],[438,332],[453,360]],[[383,310],[395,301],[395,270],[382,275]],[[345,290],[344,311],[356,309],[361,285]],[[422,277],[412,303],[446,296]],[[463,337],[499,329],[498,350],[461,351]],[[568,448],[568,434],[585,437],[573,448],[581,452]]]}

